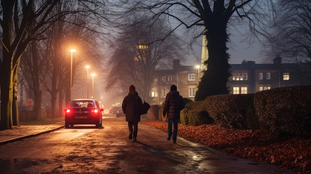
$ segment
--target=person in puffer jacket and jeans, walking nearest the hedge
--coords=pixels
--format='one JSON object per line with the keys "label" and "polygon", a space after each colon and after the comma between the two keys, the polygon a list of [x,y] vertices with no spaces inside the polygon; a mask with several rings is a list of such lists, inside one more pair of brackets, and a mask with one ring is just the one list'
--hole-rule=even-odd
{"label": "person in puffer jacket and jeans, walking nearest the hedge", "polygon": [[[167,113],[168,118],[168,137],[167,140],[170,140],[170,137],[173,135],[173,143],[176,143],[177,138],[177,129],[178,122],[180,118],[180,110],[185,108],[185,103],[177,87],[172,85],[170,87],[169,93],[165,97],[165,102],[163,105],[163,117]],[[174,124],[174,129],[172,132],[172,124]]]}

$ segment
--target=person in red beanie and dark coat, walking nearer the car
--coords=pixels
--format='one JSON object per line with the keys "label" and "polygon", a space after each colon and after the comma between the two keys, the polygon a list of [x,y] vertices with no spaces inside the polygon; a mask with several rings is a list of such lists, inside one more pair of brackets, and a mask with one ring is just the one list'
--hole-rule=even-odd
{"label": "person in red beanie and dark coat, walking nearer the car", "polygon": [[[141,121],[141,115],[139,114],[139,108],[143,106],[142,99],[138,96],[135,91],[135,86],[131,85],[129,94],[124,98],[122,102],[122,110],[125,114],[125,119],[129,125],[129,139],[137,141],[138,121]],[[133,131],[134,126],[134,131]]]}

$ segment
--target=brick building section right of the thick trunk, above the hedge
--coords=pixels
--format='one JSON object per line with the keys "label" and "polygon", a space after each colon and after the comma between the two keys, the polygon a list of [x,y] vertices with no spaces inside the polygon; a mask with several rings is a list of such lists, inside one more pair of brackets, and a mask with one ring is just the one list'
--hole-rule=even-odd
{"label": "brick building section right of the thick trunk, above the hedge", "polygon": [[241,64],[231,64],[230,72],[232,76],[227,86],[231,94],[310,84],[310,68],[307,64],[281,63],[281,58],[274,58],[270,64],[243,60]]}

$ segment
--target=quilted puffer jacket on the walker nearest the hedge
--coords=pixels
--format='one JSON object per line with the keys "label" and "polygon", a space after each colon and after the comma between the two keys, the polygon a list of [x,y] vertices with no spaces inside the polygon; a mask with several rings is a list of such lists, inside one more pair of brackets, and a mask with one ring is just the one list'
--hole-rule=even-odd
{"label": "quilted puffer jacket on the walker nearest the hedge", "polygon": [[166,94],[163,106],[163,116],[167,113],[169,119],[179,119],[180,110],[185,108],[185,103],[178,91],[169,91]]}

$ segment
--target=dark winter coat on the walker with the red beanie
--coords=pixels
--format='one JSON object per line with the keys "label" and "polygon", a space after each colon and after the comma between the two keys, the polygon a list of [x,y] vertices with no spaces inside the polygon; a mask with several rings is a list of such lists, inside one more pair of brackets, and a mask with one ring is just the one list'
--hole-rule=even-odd
{"label": "dark winter coat on the walker with the red beanie", "polygon": [[138,108],[142,106],[143,102],[138,96],[138,93],[136,91],[130,91],[122,103],[122,110],[125,114],[126,121],[141,121],[141,115],[138,112]]}

